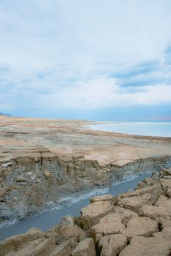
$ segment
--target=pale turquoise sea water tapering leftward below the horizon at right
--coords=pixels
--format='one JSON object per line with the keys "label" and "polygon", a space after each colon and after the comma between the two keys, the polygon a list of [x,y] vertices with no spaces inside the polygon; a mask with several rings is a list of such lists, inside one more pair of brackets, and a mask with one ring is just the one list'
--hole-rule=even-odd
{"label": "pale turquoise sea water tapering leftward below the horizon at right", "polygon": [[148,135],[171,138],[171,121],[163,122],[105,122],[91,125],[91,129],[106,132],[121,132],[131,135]]}

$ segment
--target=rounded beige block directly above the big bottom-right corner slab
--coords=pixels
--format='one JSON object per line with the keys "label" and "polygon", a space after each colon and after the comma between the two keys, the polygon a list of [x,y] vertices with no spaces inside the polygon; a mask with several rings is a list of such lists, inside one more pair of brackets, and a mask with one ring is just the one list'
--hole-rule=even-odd
{"label": "rounded beige block directly above the big bottom-right corner slab", "polygon": [[156,222],[147,217],[137,217],[130,219],[126,230],[123,230],[123,235],[127,238],[133,236],[151,236],[153,233],[159,232],[159,227]]}

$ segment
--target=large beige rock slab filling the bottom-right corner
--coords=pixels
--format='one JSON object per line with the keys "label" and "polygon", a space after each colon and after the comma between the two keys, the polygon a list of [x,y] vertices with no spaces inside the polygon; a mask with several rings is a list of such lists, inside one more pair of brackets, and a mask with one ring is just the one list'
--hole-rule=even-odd
{"label": "large beige rock slab filling the bottom-right corner", "polygon": [[144,238],[134,236],[119,256],[168,256],[171,249],[171,228]]}

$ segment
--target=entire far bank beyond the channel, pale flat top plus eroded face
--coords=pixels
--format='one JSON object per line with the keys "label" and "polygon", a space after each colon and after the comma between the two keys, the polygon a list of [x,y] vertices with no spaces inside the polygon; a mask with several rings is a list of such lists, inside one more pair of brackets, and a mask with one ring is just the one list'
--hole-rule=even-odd
{"label": "entire far bank beyond the channel, pale flat top plus eroded face", "polygon": [[91,124],[0,117],[1,223],[37,214],[71,193],[171,166],[170,138],[101,132]]}

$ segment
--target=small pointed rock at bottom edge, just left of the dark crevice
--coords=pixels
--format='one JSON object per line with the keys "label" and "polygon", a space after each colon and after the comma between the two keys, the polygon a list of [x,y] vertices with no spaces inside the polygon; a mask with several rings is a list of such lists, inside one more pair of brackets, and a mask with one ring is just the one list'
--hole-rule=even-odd
{"label": "small pointed rock at bottom edge, just left of the dark crevice", "polygon": [[81,241],[72,252],[72,256],[96,256],[94,240],[87,238]]}

